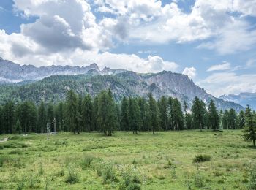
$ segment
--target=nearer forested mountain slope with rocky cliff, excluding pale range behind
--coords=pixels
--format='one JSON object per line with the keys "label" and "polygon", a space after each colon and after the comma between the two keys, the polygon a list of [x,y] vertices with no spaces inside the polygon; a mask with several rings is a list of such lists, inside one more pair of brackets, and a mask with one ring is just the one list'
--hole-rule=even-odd
{"label": "nearer forested mountain slope with rocky cliff, excluding pale range behind", "polygon": [[157,99],[161,96],[173,96],[181,102],[186,100],[191,106],[195,96],[198,96],[206,104],[214,99],[218,109],[231,107],[237,111],[243,109],[239,104],[225,102],[207,94],[189,80],[187,75],[166,71],[146,75],[130,71],[110,71],[112,75],[102,75],[97,69],[90,69],[83,75],[56,75],[34,83],[1,85],[0,102],[7,99],[15,101],[30,99],[37,103],[42,99],[59,102],[65,98],[69,89],[73,89],[78,94],[89,93],[95,96],[100,91],[110,88],[116,100],[120,100],[122,96],[148,96],[148,93],[152,93]]}

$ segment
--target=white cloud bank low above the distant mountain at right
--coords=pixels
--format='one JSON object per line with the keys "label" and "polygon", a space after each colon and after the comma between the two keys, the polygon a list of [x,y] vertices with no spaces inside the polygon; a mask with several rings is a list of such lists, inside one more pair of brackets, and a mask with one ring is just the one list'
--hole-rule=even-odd
{"label": "white cloud bank low above the distant mountain at right", "polygon": [[220,72],[197,81],[197,85],[207,89],[214,96],[220,96],[222,94],[255,92],[255,80],[255,74],[237,75],[235,72]]}

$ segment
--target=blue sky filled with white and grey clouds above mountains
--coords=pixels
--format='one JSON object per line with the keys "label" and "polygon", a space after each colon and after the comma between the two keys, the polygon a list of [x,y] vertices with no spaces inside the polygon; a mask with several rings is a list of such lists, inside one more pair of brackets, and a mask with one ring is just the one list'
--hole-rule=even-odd
{"label": "blue sky filled with white and grey clouds above mountains", "polygon": [[214,96],[256,92],[256,0],[1,0],[0,57],[162,70]]}

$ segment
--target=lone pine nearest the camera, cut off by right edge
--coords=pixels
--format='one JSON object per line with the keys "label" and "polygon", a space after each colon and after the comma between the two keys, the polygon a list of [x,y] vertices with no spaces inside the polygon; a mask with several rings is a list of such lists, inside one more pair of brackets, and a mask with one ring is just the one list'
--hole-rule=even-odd
{"label": "lone pine nearest the camera, cut off by right edge", "polygon": [[244,140],[252,141],[255,147],[256,121],[249,105],[247,105],[245,110],[245,126],[244,126],[243,133],[244,133],[243,134]]}

